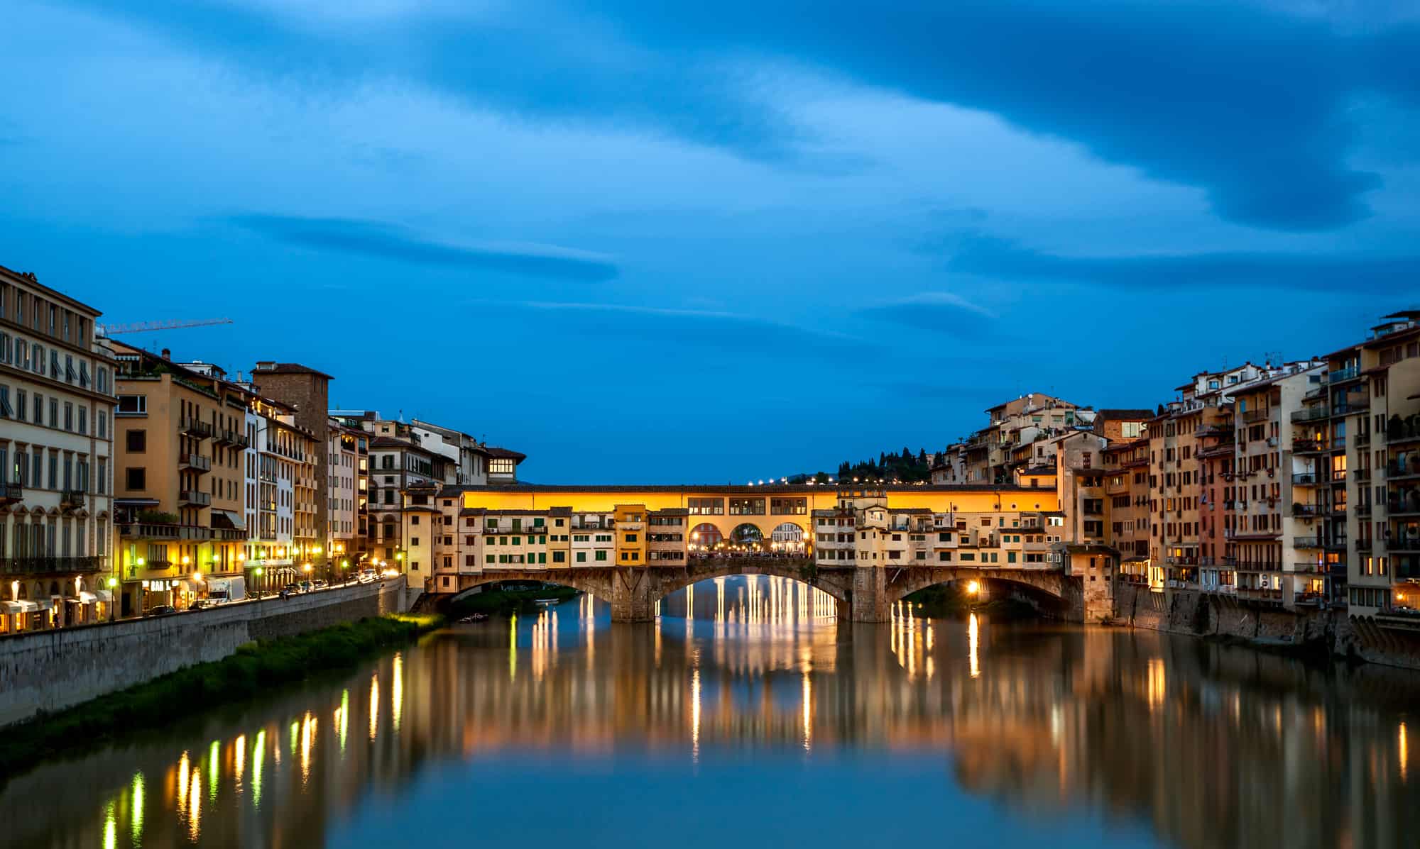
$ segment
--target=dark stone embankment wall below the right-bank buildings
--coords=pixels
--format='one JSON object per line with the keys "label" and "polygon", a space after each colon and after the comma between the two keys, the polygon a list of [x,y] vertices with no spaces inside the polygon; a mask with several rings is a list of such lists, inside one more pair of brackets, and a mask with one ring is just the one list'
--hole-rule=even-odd
{"label": "dark stone embankment wall below the right-bank buildings", "polygon": [[1115,619],[1133,628],[1420,670],[1420,630],[1353,619],[1345,610],[1284,610],[1190,589],[1162,593],[1122,585],[1115,592]]}

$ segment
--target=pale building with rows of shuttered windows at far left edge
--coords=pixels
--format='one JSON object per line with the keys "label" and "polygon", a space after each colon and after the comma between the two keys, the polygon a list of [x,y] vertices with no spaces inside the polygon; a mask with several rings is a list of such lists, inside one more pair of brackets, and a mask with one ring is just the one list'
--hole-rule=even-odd
{"label": "pale building with rows of shuttered windows at far left edge", "polygon": [[0,267],[0,633],[114,615],[114,356],[98,317]]}

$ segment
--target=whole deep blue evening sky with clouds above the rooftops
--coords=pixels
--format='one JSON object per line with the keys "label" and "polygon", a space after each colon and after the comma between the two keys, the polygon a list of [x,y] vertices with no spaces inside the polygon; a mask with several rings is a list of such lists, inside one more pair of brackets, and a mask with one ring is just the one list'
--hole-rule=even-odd
{"label": "whole deep blue evening sky with clouds above the rooftops", "polygon": [[[744,481],[1420,305],[1413,3],[7,4],[0,264],[230,369]],[[1358,297],[1358,294],[1363,297]]]}

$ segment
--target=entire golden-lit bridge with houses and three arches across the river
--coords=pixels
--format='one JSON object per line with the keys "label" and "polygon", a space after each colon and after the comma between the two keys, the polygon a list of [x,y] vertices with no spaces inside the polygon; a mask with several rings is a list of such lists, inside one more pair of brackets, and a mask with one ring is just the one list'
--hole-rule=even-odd
{"label": "entire golden-lit bridge with houses and three arches across the river", "polygon": [[[405,538],[427,541],[412,545],[408,569],[436,603],[535,579],[608,602],[613,620],[643,622],[692,584],[770,575],[824,591],[856,622],[886,622],[895,602],[953,581],[987,592],[1025,586],[1068,619],[1098,615],[1085,568],[1052,554],[1064,530],[1052,521],[1052,488],[520,484],[408,490],[405,511]],[[422,513],[456,534],[419,534]],[[440,551],[440,539],[450,548]],[[1106,579],[1096,584],[1108,586],[1113,561],[1096,554],[1086,568],[1100,569]]]}

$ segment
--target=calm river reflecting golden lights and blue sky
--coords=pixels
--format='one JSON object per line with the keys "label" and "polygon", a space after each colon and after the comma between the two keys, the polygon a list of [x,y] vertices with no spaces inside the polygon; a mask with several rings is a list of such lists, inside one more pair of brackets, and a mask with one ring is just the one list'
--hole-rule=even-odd
{"label": "calm river reflecting golden lights and blue sky", "polygon": [[582,598],[175,704],[13,779],[0,843],[1414,848],[1417,699],[1414,673],[1147,632],[849,626],[730,578],[657,626]]}

